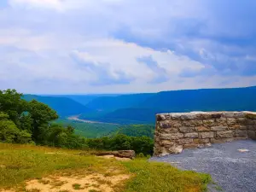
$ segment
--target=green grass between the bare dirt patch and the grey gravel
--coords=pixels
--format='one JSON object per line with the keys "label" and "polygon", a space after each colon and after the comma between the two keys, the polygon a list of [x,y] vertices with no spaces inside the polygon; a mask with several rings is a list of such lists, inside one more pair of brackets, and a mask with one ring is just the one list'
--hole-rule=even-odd
{"label": "green grass between the bare dirt patch and the grey gravel", "polygon": [[125,192],[206,191],[207,183],[212,180],[208,174],[181,171],[168,164],[147,162],[143,159],[122,164],[136,175],[127,183]]}

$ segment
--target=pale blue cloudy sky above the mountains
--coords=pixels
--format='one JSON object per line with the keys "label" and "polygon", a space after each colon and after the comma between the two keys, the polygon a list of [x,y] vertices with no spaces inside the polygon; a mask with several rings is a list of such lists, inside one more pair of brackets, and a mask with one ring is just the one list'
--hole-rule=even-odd
{"label": "pale blue cloudy sky above the mountains", "polygon": [[1,0],[0,90],[256,85],[255,0]]}

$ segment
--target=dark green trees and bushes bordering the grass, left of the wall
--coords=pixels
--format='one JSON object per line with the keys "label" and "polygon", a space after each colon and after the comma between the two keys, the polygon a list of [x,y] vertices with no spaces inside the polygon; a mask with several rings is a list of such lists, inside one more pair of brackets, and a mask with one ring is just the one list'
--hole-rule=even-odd
{"label": "dark green trees and bushes bordering the grass, left of the wall", "polygon": [[153,140],[149,137],[85,138],[75,134],[71,125],[55,122],[58,114],[43,102],[24,100],[16,90],[0,90],[0,142],[31,143],[60,148],[96,148],[104,150],[133,149],[152,154]]}

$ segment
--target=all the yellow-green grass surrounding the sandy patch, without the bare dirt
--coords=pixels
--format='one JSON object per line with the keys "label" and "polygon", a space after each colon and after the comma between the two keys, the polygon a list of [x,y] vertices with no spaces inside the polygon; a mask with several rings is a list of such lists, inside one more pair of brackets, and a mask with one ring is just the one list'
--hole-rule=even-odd
{"label": "all the yellow-green grass surrounding the sandy patch, without the bare dirt", "polygon": [[79,153],[77,150],[0,143],[0,189],[22,185],[32,178],[45,183],[44,177],[50,174],[65,172],[67,176],[75,176],[84,174],[84,171],[101,173],[106,177],[131,175],[126,183],[114,188],[125,192],[199,192],[204,191],[211,181],[207,174],[183,172],[146,159],[117,161],[98,158],[90,152],[85,152],[85,155]]}

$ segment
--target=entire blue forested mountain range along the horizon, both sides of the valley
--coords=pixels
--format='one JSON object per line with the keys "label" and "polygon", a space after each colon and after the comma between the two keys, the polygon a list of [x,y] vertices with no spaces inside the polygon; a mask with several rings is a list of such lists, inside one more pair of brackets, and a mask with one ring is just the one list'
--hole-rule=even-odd
{"label": "entire blue forested mountain range along the horizon, both sides of the valley", "polygon": [[[154,123],[155,113],[189,111],[256,111],[256,86],[230,89],[169,90],[121,96],[32,96],[48,104],[61,117],[80,114],[81,119],[108,123]],[[71,98],[76,98],[73,101]],[[79,99],[78,99],[79,98]],[[84,105],[83,103],[87,103]]]}

